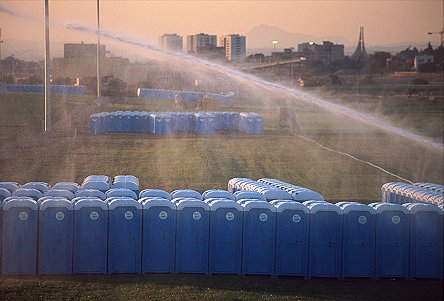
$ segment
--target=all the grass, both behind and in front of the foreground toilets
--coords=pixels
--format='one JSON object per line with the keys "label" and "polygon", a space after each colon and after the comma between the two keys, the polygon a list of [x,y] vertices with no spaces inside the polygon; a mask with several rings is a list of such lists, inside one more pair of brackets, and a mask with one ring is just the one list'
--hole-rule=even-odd
{"label": "all the grass, both behind and in front of the foreground toilets", "polygon": [[[295,133],[279,129],[280,106],[294,108]],[[414,182],[443,182],[440,150],[271,93],[242,95],[230,107],[216,107],[264,114],[265,134],[260,136],[88,134],[92,113],[171,111],[171,103],[162,101],[104,100],[97,105],[89,96],[53,96],[54,130],[48,134],[41,130],[41,95],[0,95],[0,107],[0,181],[54,184],[81,182],[90,174],[133,174],[143,188],[204,191],[226,189],[233,177],[273,177],[319,191],[327,200],[362,202],[377,201],[382,184],[399,181],[363,161],[328,151],[320,143]],[[410,108],[404,108],[406,118],[415,119],[422,112]],[[411,128],[442,139],[434,134],[442,129],[442,103],[424,110],[433,115],[428,119],[432,131],[415,122],[409,123]],[[0,277],[0,299],[442,300],[441,284],[434,280],[308,281],[200,275]]]}

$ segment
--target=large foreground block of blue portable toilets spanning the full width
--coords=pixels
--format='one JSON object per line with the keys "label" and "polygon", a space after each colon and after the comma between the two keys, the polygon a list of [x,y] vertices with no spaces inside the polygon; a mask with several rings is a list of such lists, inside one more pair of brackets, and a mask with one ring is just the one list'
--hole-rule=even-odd
{"label": "large foreground block of blue portable toilets spanning the full width", "polygon": [[[443,211],[431,204],[331,204],[275,179],[203,194],[139,191],[134,176],[0,187],[2,274],[443,277]],[[74,197],[49,193],[63,190]]]}

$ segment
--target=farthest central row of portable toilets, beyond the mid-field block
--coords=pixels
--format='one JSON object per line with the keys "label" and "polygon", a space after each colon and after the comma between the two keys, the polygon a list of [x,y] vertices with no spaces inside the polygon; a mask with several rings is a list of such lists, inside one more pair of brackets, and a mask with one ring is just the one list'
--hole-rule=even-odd
{"label": "farthest central row of portable toilets, beyond the mid-field block", "polygon": [[138,88],[137,96],[142,99],[180,100],[196,102],[203,98],[213,99],[221,104],[228,104],[235,95],[234,92],[225,94],[205,93],[195,91],[176,91],[164,89]]}

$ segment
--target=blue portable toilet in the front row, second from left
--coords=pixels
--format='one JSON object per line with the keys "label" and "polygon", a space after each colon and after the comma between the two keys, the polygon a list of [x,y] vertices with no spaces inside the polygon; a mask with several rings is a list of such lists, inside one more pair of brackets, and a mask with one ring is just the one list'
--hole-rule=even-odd
{"label": "blue portable toilet in the front row, second from left", "polygon": [[38,273],[72,274],[73,212],[65,199],[46,200],[39,208]]}

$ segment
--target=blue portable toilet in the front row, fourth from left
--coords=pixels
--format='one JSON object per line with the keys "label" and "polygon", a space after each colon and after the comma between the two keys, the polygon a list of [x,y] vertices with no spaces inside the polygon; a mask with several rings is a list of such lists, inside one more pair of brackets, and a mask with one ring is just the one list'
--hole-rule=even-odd
{"label": "blue portable toilet in the front row, fourth from left", "polygon": [[117,198],[108,207],[108,273],[140,273],[142,205],[129,198]]}

